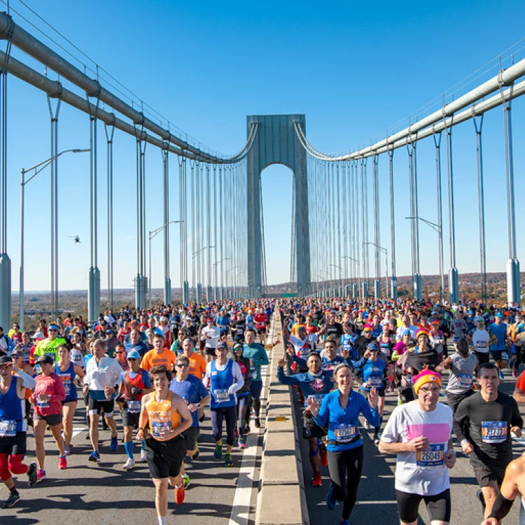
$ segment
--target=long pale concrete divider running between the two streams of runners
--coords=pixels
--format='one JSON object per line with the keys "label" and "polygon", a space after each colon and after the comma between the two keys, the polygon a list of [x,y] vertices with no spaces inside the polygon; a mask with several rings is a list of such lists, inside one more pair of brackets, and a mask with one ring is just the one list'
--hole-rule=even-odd
{"label": "long pale concrete divider running between the two streams of runners", "polygon": [[[282,339],[277,305],[274,334]],[[277,381],[277,360],[284,353],[282,341],[268,351],[269,385],[256,525],[309,525],[293,397],[290,387]]]}

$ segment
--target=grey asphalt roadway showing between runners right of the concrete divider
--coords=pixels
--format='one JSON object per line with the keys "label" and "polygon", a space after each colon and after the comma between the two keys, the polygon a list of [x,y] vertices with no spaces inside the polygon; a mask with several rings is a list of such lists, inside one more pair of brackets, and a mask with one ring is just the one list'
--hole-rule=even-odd
{"label": "grey asphalt roadway showing between runners right of the concrete divider", "polygon": [[[500,389],[505,393],[512,393],[515,379],[508,370],[505,372],[505,380]],[[354,387],[355,388],[355,387]],[[295,414],[300,423],[302,431],[302,409],[298,401],[297,391],[295,397]],[[441,397],[441,402],[446,402],[446,398]],[[387,393],[383,426],[386,423],[388,414],[397,406],[397,393]],[[362,419],[362,418],[361,418]],[[365,461],[363,466],[363,477],[359,485],[358,503],[351,514],[351,523],[354,525],[398,525],[399,514],[395,502],[393,472],[395,470],[395,456],[384,456],[379,454],[377,447],[372,441],[373,430],[361,428],[363,442],[365,446]],[[307,440],[300,440],[302,465],[304,472],[304,488],[307,495],[308,512],[311,525],[335,525],[341,520],[342,504],[339,503],[335,510],[328,510],[325,503],[326,493],[330,486],[328,468],[321,467],[323,475],[323,486],[311,486],[311,476],[313,471],[308,459]],[[461,451],[457,440],[454,440],[456,452]],[[514,456],[517,457],[525,452],[523,440],[514,440]],[[472,467],[468,463],[468,458],[463,454],[458,454],[458,461],[453,469],[450,470],[452,514],[451,524],[479,525],[482,522],[482,507],[477,499],[477,482],[472,472]],[[419,524],[430,524],[425,505],[421,503],[419,507]],[[517,502],[512,506],[512,510],[505,524],[519,523],[519,505]]]}

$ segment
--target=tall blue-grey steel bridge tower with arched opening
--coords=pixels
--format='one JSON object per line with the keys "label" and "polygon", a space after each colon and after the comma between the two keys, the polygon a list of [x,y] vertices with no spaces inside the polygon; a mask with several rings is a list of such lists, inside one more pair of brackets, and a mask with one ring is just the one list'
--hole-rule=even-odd
{"label": "tall blue-grey steel bridge tower with arched opening", "polygon": [[[262,216],[260,209],[260,174],[272,164],[290,168],[294,178],[295,261],[297,294],[310,293],[310,237],[308,216],[307,153],[302,147],[293,123],[306,130],[304,115],[248,116],[247,136],[251,123],[258,123],[255,140],[246,159],[248,206],[248,291],[251,297],[262,295]],[[277,210],[276,210],[277,211]]]}

